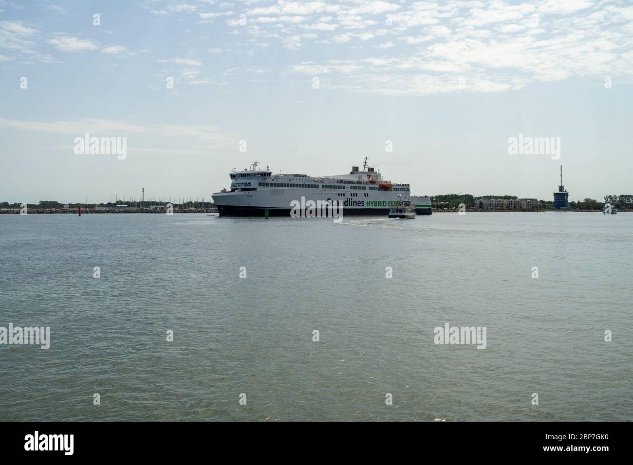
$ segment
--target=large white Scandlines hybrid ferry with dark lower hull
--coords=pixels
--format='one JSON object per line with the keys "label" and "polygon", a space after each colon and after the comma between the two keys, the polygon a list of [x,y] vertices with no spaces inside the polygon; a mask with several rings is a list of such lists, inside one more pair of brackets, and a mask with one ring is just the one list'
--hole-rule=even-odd
{"label": "large white Scandlines hybrid ferry with dark lower hull", "polygon": [[352,166],[347,175],[311,177],[303,174],[274,174],[255,161],[243,171],[229,173],[230,189],[212,195],[220,216],[290,216],[291,202],[333,202],[344,215],[380,215],[392,206],[408,201],[417,214],[431,214],[429,197],[411,195],[410,185],[385,180],[380,171],[368,166]]}

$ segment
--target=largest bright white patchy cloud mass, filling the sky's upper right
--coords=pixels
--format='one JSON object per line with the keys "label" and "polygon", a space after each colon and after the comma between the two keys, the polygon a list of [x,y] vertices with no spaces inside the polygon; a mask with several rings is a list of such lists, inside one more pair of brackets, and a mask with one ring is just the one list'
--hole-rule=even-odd
{"label": "largest bright white patchy cloud mass, filling the sky's upper right", "polygon": [[[344,59],[337,59],[333,47],[332,59],[299,58],[287,66],[288,73],[327,74],[330,88],[389,96],[508,92],[532,82],[573,77],[598,82],[618,75],[633,81],[631,6],[586,0],[398,3],[401,8],[392,9],[385,24],[371,25],[367,15],[352,14],[369,3],[348,0],[346,4],[351,8],[344,4],[327,20],[313,16],[302,27],[338,25],[335,32],[324,30],[327,37],[318,41],[332,45],[386,37],[391,40],[369,49],[382,51],[383,56],[365,50],[358,58],[341,53]],[[357,33],[358,29],[365,30]]]}

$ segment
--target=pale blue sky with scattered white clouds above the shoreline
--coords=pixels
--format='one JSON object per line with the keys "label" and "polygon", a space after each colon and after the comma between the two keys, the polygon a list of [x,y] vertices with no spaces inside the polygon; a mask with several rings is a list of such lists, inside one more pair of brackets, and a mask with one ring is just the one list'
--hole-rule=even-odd
{"label": "pale blue sky with scattered white clouds above the shoreline", "polygon": [[0,201],[210,199],[253,161],[365,157],[414,195],[551,200],[562,164],[601,200],[633,194],[632,102],[630,1],[0,0]]}

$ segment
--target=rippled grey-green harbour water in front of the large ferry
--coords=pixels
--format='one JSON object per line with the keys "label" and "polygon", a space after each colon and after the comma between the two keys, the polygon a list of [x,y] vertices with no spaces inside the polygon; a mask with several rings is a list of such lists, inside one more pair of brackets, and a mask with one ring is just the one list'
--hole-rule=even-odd
{"label": "rippled grey-green harbour water in front of the large ferry", "polygon": [[[0,215],[0,237],[0,326],[51,327],[0,345],[1,420],[633,419],[633,214]],[[434,344],[444,323],[486,349]]]}

